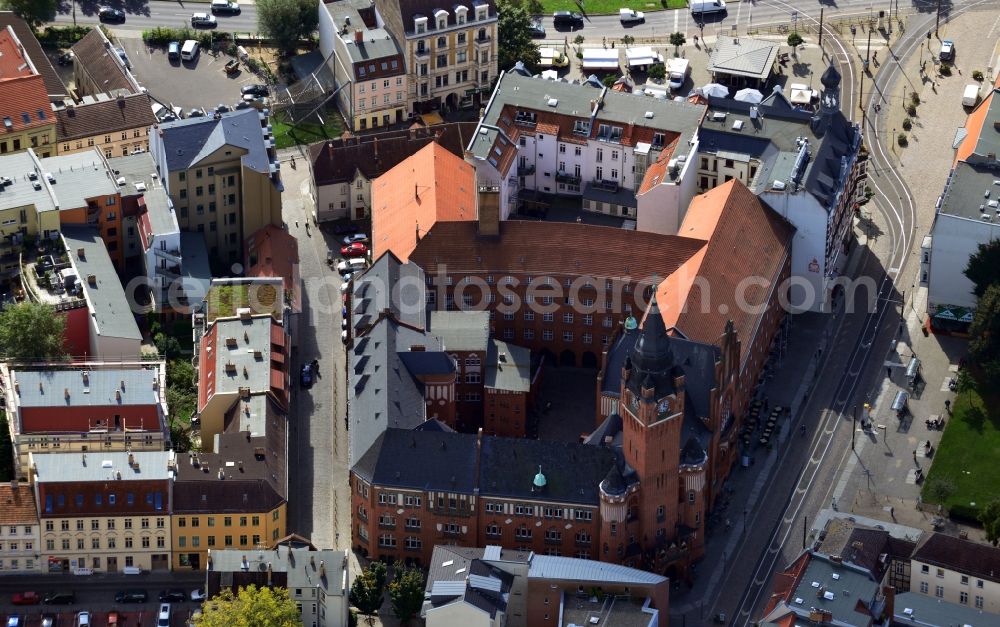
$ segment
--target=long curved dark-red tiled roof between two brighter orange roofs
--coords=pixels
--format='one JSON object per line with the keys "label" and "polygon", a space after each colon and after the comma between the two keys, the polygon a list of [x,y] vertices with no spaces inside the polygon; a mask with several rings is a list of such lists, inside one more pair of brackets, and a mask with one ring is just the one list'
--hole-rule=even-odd
{"label": "long curved dark-red tiled roof between two brighter orange roofs", "polygon": [[[654,275],[674,272],[705,245],[676,235],[575,222],[505,220],[496,238],[478,237],[477,226],[476,222],[438,222],[421,238],[411,261],[427,276],[441,266],[460,274],[530,272],[648,281]],[[595,254],[597,250],[601,252]]]}

